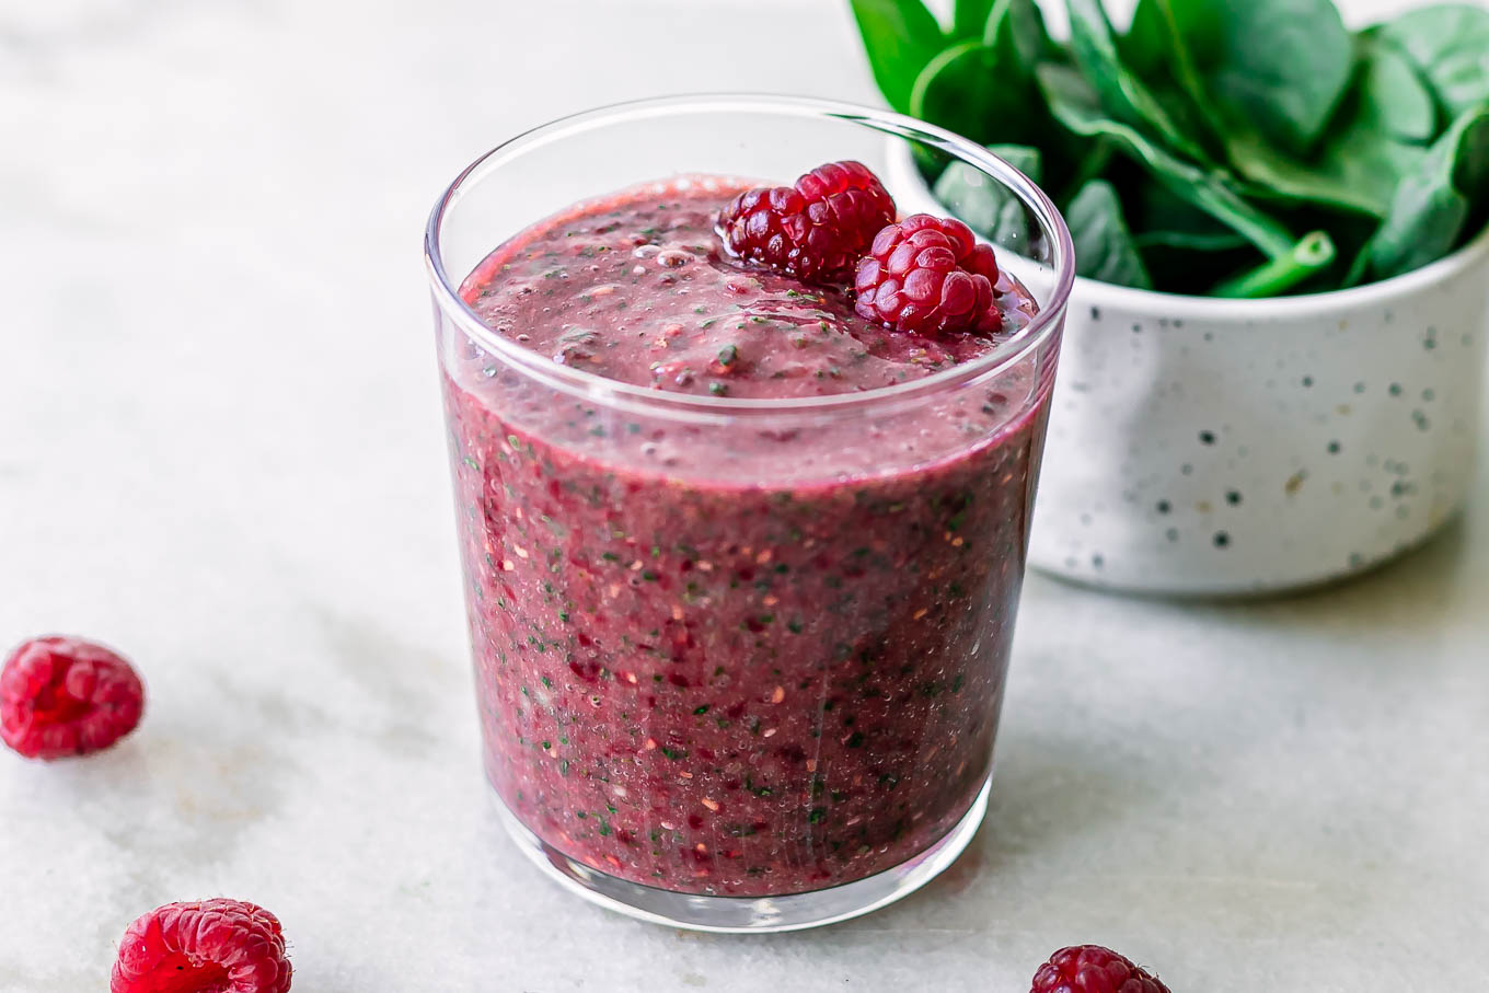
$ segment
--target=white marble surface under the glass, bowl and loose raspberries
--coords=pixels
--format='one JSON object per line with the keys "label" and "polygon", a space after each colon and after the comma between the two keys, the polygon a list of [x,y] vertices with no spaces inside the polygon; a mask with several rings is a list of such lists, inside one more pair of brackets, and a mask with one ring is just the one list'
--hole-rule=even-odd
{"label": "white marble surface under the glass, bowl and loose raspberries", "polygon": [[113,752],[0,755],[0,992],[101,990],[131,917],[205,895],[277,911],[307,993],[1017,993],[1078,941],[1176,993],[1485,989],[1483,478],[1295,600],[1030,579],[987,825],[873,917],[676,933],[520,861],[418,238],[515,128],[697,88],[874,100],[835,0],[0,0],[0,642],[150,686]]}

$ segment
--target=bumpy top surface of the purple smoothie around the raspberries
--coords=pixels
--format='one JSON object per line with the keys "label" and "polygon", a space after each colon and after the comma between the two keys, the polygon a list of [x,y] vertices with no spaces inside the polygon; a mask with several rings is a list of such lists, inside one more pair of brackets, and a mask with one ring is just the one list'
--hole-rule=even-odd
{"label": "bumpy top surface of the purple smoothie around the raspberries", "polygon": [[922,378],[986,354],[1033,316],[1033,302],[1004,275],[996,338],[881,328],[853,313],[844,289],[728,258],[713,225],[739,189],[685,180],[558,214],[491,253],[462,298],[497,333],[557,363],[734,397]]}

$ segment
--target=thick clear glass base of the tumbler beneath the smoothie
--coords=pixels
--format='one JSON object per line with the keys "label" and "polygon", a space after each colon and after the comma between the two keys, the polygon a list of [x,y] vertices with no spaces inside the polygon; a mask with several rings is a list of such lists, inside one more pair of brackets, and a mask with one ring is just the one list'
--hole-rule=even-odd
{"label": "thick clear glass base of the tumbler beneath the smoothie", "polygon": [[517,841],[523,855],[564,889],[578,893],[591,904],[654,925],[670,925],[689,930],[771,933],[820,927],[859,917],[893,904],[934,880],[956,862],[956,856],[962,855],[971,844],[972,835],[983,823],[983,814],[987,813],[987,794],[992,782],[993,777],[989,776],[983,789],[978,791],[977,799],[972,801],[972,807],[956,822],[954,828],[913,859],[868,878],[810,893],[792,893],[791,896],[695,896],[673,893],[655,886],[642,886],[608,872],[599,872],[588,865],[575,862],[535,835],[506,808],[500,798],[496,798],[494,791],[491,795],[496,798],[502,823],[506,825],[508,834]]}

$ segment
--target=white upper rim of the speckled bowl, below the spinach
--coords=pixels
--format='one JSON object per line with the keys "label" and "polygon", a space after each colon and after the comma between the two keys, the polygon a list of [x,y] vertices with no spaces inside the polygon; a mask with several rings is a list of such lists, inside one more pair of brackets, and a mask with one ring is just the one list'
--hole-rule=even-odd
{"label": "white upper rim of the speckled bowl, below the spinach", "polygon": [[[914,168],[908,153],[892,147],[889,159],[893,164],[890,168],[895,173],[895,182],[914,183],[919,191],[925,192],[928,202],[941,204],[931,185],[920,176],[920,170]],[[1206,317],[1309,317],[1358,307],[1386,307],[1447,283],[1453,277],[1485,262],[1489,262],[1489,222],[1473,238],[1440,259],[1434,259],[1410,272],[1401,272],[1376,280],[1374,283],[1346,289],[1297,293],[1292,296],[1196,296],[1193,293],[1164,293],[1161,290],[1117,286],[1115,283],[1093,280],[1088,275],[1077,275],[1071,302],[1080,305],[1088,301],[1090,295],[1100,295],[1102,304],[1114,308],[1150,313],[1163,310],[1164,316],[1179,317],[1181,320],[1203,320]]]}

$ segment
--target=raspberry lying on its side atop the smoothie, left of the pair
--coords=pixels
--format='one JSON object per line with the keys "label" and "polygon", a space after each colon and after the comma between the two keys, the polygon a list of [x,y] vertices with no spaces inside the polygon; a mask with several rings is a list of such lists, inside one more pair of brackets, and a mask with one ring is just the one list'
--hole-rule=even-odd
{"label": "raspberry lying on its side atop the smoothie, left of the pair", "polygon": [[828,162],[795,186],[749,189],[719,211],[730,252],[804,280],[846,280],[895,201],[862,162]]}

